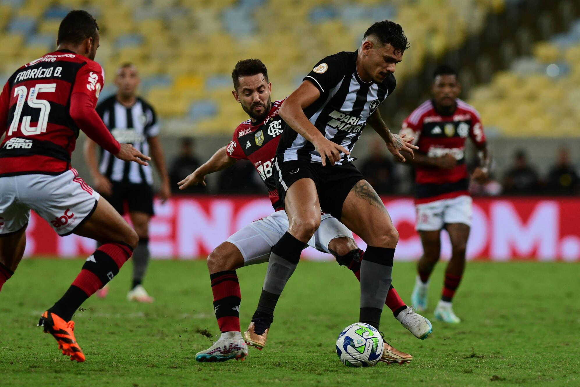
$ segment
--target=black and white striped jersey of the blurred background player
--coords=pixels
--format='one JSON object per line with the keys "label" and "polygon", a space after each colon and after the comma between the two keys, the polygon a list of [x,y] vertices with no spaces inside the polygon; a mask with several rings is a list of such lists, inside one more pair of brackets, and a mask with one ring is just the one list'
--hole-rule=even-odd
{"label": "black and white striped jersey of the blurred background player", "polygon": [[[115,96],[104,100],[96,107],[111,134],[119,143],[133,144],[141,153],[149,154],[147,140],[159,135],[157,115],[150,104],[137,97],[132,107],[125,107]],[[122,161],[106,150],[101,151],[99,171],[114,182],[153,185],[151,166]]]}

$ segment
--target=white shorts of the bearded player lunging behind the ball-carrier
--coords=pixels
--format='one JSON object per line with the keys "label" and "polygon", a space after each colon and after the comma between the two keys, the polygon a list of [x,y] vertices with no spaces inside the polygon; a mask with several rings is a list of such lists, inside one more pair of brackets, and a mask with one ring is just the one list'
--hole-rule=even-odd
{"label": "white shorts of the bearded player lunging behind the ball-carrier", "polygon": [[[288,231],[288,215],[285,211],[276,211],[274,214],[256,220],[245,226],[231,237],[227,242],[233,243],[242,256],[244,266],[254,263],[267,262],[270,258],[272,246]],[[353,233],[330,214],[322,214],[320,227],[308,241],[310,247],[318,251],[327,252],[328,244],[334,238],[353,237]]]}

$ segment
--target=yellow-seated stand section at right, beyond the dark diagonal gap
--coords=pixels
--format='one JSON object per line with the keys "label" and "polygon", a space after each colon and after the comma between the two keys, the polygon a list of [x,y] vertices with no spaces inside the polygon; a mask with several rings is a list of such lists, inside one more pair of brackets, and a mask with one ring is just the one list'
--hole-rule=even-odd
{"label": "yellow-seated stand section at right, beyond the dark diagonal gap", "polygon": [[580,136],[580,20],[474,89],[470,103],[506,136]]}

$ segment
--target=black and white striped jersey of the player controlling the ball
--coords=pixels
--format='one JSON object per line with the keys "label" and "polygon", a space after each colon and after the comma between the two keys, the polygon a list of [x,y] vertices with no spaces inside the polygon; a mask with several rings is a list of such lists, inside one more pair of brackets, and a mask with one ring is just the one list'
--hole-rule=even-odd
{"label": "black and white striped jersey of the player controlling the ball", "polygon": [[[363,82],[357,73],[357,55],[358,50],[327,56],[303,79],[320,91],[320,97],[304,110],[306,117],[327,139],[351,152],[347,157],[341,153],[336,165],[354,160],[354,143],[360,138],[368,117],[395,88],[393,74],[380,84]],[[314,145],[288,124],[284,126],[277,156],[281,161],[322,162]]]}

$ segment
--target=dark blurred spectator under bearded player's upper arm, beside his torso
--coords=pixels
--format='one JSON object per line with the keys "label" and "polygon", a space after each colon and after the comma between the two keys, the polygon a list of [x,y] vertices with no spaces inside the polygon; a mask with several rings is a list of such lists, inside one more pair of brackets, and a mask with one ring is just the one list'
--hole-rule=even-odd
{"label": "dark blurred spectator under bearded player's upper arm, beside his torso", "polygon": [[266,192],[266,187],[248,160],[240,160],[219,173],[218,193],[259,194],[264,192]]}

